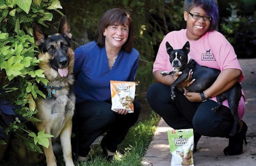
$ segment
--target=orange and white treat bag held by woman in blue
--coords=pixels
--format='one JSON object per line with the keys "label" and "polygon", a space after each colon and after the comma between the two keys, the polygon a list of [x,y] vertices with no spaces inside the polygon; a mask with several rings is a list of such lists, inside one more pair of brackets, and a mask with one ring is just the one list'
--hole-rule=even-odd
{"label": "orange and white treat bag held by woman in blue", "polygon": [[135,82],[110,80],[111,110],[125,109],[128,113],[134,112],[135,87]]}

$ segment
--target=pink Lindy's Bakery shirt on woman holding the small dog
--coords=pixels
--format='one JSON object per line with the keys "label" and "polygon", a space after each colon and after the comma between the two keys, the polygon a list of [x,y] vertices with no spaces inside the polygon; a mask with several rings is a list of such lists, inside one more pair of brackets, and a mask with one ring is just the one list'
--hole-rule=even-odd
{"label": "pink Lindy's Bakery shirt on woman holding the small dog", "polygon": [[[153,72],[156,70],[173,71],[172,65],[169,61],[169,55],[166,52],[165,43],[168,41],[172,45],[173,49],[182,49],[186,41],[189,41],[186,37],[186,29],[180,31],[172,31],[164,37],[159,46],[156,60],[153,65]],[[237,60],[234,48],[223,34],[218,31],[207,32],[199,40],[189,41],[191,59],[209,68],[217,68],[218,70],[225,70],[227,68],[236,68],[241,70],[239,61]],[[240,82],[244,79],[244,75]],[[242,91],[241,100],[238,107],[238,116],[241,119],[245,110],[245,96]],[[212,98],[216,101],[216,98]],[[225,100],[223,105],[228,107],[228,102]]]}

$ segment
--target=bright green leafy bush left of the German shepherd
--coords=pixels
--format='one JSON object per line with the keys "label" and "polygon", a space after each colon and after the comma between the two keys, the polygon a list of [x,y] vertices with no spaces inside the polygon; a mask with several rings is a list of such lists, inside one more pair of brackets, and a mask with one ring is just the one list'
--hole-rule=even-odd
{"label": "bright green leafy bush left of the German shepherd", "polygon": [[[47,84],[43,71],[37,68],[38,51],[31,27],[34,22],[47,27],[45,22],[53,17],[49,11],[58,11],[58,8],[62,8],[58,0],[0,0],[0,116],[1,119],[7,116],[6,103],[13,105],[17,114],[7,127],[0,124],[0,128],[7,135],[12,132],[22,137],[29,149],[41,153],[35,144],[49,146],[47,138],[52,136],[44,131],[37,136],[25,125],[27,121],[38,121],[34,117],[35,100],[38,95],[45,97],[45,94],[37,84]],[[3,140],[1,142],[4,144]]]}

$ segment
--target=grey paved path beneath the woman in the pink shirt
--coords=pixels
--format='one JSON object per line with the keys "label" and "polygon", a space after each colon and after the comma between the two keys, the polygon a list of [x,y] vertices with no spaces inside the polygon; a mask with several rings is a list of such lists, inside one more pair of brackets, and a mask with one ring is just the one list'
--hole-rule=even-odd
{"label": "grey paved path beneath the woman in the pink shirt", "polygon": [[[228,139],[202,136],[193,154],[196,166],[251,166],[256,165],[256,59],[239,59],[245,78],[243,90],[246,95],[246,112],[243,121],[248,125],[246,133],[247,145],[244,153],[236,156],[225,156],[223,149],[228,145]],[[160,120],[154,137],[145,153],[142,165],[171,165],[167,131],[170,130],[163,119]]]}

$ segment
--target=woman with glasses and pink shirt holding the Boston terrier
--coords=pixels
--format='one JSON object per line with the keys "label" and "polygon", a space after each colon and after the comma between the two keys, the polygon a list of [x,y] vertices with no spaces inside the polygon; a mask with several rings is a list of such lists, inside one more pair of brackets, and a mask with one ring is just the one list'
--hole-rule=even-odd
{"label": "woman with glasses and pink shirt holding the Boston terrier", "polygon": [[[227,137],[228,146],[223,150],[224,154],[239,155],[243,153],[243,140],[246,142],[247,132],[246,123],[241,120],[245,109],[244,93],[242,92],[237,110],[239,123],[234,136],[230,136],[234,119],[227,100],[218,111],[211,110],[217,105],[218,94],[227,91],[236,82],[244,79],[234,48],[223,34],[215,30],[219,18],[218,4],[215,0],[186,0],[183,8],[186,29],[166,34],[161,42],[153,68],[156,83],[148,89],[148,103],[172,128],[193,128],[195,150],[201,135]],[[221,70],[212,86],[205,89],[204,97],[201,97],[200,93],[180,93],[175,89],[176,97],[174,100],[171,99],[170,86],[180,73],[161,75],[163,71],[173,71],[166,52],[166,41],[172,45],[173,49],[182,49],[186,41],[189,41],[191,59],[195,59],[202,66]],[[192,75],[193,71],[190,71],[189,78],[179,87],[188,87],[193,84],[195,80],[191,80]],[[202,102],[205,98],[207,101]]]}

